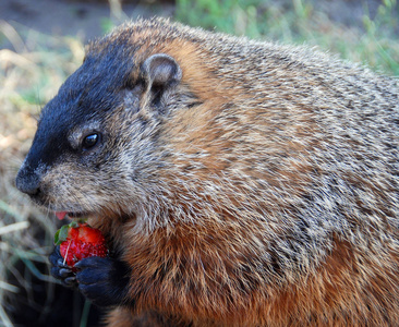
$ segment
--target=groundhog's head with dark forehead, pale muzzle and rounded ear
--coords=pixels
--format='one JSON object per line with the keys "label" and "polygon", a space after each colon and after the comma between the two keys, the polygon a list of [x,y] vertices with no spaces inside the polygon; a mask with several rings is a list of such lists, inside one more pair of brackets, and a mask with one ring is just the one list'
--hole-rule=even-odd
{"label": "groundhog's head with dark forehead, pale muzzle and rounded ear", "polygon": [[120,38],[92,44],[82,66],[41,111],[16,186],[51,210],[130,214],[157,192],[167,156],[159,129],[181,104],[182,71],[172,57],[136,56],[129,36]]}

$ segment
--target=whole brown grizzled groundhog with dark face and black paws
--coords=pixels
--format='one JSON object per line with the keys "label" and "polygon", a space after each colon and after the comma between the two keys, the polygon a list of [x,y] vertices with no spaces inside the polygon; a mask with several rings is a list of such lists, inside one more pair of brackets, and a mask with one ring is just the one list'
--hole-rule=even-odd
{"label": "whole brown grizzled groundhog with dark face and black paws", "polygon": [[93,41],[16,185],[89,217],[52,274],[109,326],[398,326],[399,85],[167,20]]}

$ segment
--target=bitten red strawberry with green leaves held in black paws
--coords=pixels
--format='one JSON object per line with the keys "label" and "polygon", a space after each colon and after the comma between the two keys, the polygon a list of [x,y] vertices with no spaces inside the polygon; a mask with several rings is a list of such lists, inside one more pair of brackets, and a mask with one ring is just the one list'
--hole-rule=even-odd
{"label": "bitten red strawberry with green leaves held in black paws", "polygon": [[101,231],[85,222],[72,221],[61,227],[55,235],[55,244],[60,245],[61,256],[71,267],[85,257],[105,257],[108,254]]}

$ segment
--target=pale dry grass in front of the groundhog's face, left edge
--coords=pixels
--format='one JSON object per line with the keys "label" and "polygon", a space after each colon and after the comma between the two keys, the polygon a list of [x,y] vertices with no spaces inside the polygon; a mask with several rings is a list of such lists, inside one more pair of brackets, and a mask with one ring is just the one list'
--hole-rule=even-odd
{"label": "pale dry grass in front of the groundhog's face, left edge", "polygon": [[[29,149],[40,108],[82,62],[84,52],[76,39],[51,38],[23,26],[15,31],[4,21],[0,43],[10,46],[0,50],[0,320],[8,326],[5,293],[14,299],[21,293],[32,307],[44,306],[35,303],[29,280],[50,279],[37,265],[46,263],[56,231],[49,215],[15,189],[15,174]],[[21,262],[23,270],[16,268]],[[10,284],[10,279],[24,290]],[[49,302],[51,288],[48,291]]]}

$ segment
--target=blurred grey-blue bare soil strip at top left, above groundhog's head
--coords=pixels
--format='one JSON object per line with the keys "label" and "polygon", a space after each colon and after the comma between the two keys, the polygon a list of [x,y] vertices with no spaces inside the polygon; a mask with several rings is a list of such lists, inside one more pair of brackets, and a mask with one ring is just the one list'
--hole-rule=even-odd
{"label": "blurred grey-blue bare soil strip at top left, above groundhog's head", "polygon": [[0,20],[44,34],[77,36],[86,41],[104,34],[107,21],[118,24],[138,16],[172,15],[171,1],[152,2],[124,1],[123,13],[118,14],[118,9],[110,10],[108,1],[1,0]]}

